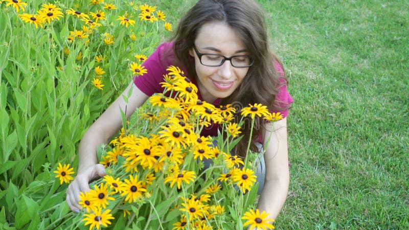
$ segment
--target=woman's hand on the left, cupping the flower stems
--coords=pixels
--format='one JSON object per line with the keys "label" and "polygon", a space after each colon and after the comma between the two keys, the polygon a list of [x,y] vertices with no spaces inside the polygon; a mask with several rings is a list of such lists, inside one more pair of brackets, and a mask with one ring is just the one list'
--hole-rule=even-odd
{"label": "woman's hand on the left, cupping the flower stems", "polygon": [[105,167],[101,164],[96,164],[78,172],[77,176],[71,181],[70,186],[68,186],[67,189],[66,200],[72,211],[77,213],[80,212],[80,192],[88,192],[90,190],[88,182],[105,175]]}

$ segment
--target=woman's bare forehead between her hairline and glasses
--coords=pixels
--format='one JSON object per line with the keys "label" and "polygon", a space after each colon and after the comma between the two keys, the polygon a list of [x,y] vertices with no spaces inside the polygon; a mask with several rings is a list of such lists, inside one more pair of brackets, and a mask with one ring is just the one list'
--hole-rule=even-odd
{"label": "woman's bare forehead between her hairline and glasses", "polygon": [[212,47],[223,53],[234,53],[246,49],[237,31],[222,21],[203,24],[198,30],[194,43],[198,48]]}

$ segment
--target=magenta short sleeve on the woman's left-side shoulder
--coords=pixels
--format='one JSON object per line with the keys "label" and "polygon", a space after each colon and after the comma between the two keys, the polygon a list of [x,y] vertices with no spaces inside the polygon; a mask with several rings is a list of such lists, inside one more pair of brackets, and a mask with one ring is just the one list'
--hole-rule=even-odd
{"label": "magenta short sleeve on the woman's left-side shoulder", "polygon": [[142,64],[145,66],[148,73],[142,76],[135,76],[133,82],[146,95],[152,96],[155,93],[162,93],[164,75],[167,73],[166,68],[172,65],[171,58],[164,57],[168,54],[169,49],[172,49],[172,42],[164,42],[145,60]]}

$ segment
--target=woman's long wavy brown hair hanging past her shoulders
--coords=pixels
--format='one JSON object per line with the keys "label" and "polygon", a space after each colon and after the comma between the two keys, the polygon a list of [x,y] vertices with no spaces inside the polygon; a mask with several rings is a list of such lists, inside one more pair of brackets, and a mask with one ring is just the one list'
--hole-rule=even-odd
{"label": "woman's long wavy brown hair hanging past her shoulders", "polygon": [[[239,87],[221,104],[233,104],[235,107],[261,103],[270,110],[277,109],[275,102],[278,93],[279,76],[275,61],[279,61],[270,49],[265,28],[263,10],[253,0],[199,0],[187,14],[181,18],[173,37],[174,52],[181,65],[187,66],[188,76],[196,77],[194,59],[189,55],[193,48],[197,32],[203,24],[221,21],[234,28],[249,51],[254,64]],[[237,107],[236,107],[237,109]],[[235,120],[240,120],[240,109]],[[264,122],[258,118],[253,129],[251,149],[257,151],[254,141],[262,133]],[[251,120],[245,119],[242,125],[243,139],[236,145],[235,154],[245,157],[245,151],[251,131]]]}

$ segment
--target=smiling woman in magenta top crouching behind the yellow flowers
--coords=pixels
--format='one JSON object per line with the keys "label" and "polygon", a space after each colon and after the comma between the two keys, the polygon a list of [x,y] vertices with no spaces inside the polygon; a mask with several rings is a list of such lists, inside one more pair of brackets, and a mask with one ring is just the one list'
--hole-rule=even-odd
{"label": "smiling woman in magenta top crouching behind the yellow flowers", "polygon": [[[154,93],[162,93],[169,65],[181,67],[198,87],[198,97],[214,105],[261,103],[270,111],[280,111],[284,119],[274,124],[259,120],[253,130],[256,143],[265,148],[265,180],[258,209],[275,219],[286,200],[289,185],[286,116],[293,102],[286,88],[282,66],[270,53],[262,11],[253,1],[200,0],[181,19],[172,42],[164,42],[145,61],[148,73],[135,77],[120,97],[89,127],[79,147],[77,177],[67,190],[67,202],[79,212],[80,191],[88,182],[105,175],[97,164],[96,150],[108,143],[122,126],[121,110],[129,117]],[[136,87],[135,87],[136,86]],[[129,96],[127,102],[124,96]],[[126,109],[125,109],[126,108]],[[239,116],[239,114],[236,114]],[[217,127],[202,135],[217,135]],[[243,125],[244,138],[235,149],[243,153],[249,140],[249,125]],[[270,144],[265,145],[271,135]],[[264,138],[266,137],[266,138]],[[261,187],[261,186],[260,186]]]}

